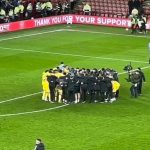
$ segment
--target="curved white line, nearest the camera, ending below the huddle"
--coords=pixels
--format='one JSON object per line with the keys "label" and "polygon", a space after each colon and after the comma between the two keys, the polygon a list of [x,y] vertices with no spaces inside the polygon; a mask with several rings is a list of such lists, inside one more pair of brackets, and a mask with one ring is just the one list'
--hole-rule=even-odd
{"label": "curved white line, nearest the camera, ending below the huddle", "polygon": [[56,110],[56,109],[59,109],[59,108],[62,108],[62,107],[66,107],[68,105],[69,104],[65,104],[65,105],[56,106],[56,107],[53,107],[53,108],[41,109],[41,110],[35,110],[35,111],[28,111],[28,112],[22,112],[22,113],[3,114],[3,115],[0,115],[0,118],[1,117],[9,117],[9,116],[19,116],[19,115],[33,114],[33,113],[39,113],[39,112],[46,112],[46,111],[51,111],[51,110]]}

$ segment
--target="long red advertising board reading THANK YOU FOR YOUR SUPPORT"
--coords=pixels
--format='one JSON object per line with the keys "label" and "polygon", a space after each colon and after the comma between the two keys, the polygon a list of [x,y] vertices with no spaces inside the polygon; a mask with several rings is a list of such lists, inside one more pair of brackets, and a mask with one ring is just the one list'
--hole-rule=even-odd
{"label": "long red advertising board reading THANK YOU FOR YOUR SUPPORT", "polygon": [[[111,27],[122,27],[122,28],[129,28],[131,25],[130,19],[84,16],[84,15],[61,15],[61,16],[52,16],[46,18],[0,24],[0,33],[56,24],[64,24],[67,22],[67,20],[71,20],[73,24],[91,24],[91,25],[102,25]],[[147,29],[150,29],[150,20],[148,20],[147,22]]]}

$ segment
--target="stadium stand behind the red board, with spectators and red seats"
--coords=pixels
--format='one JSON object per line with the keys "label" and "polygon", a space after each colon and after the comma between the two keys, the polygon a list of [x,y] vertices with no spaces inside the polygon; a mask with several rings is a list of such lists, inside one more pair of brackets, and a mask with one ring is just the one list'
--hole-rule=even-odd
{"label": "stadium stand behind the red board, with spectators and red seats", "polygon": [[[0,23],[67,13],[83,15],[83,6],[85,3],[88,3],[91,6],[92,11],[90,15],[114,18],[127,18],[130,15],[128,0],[50,0],[53,9],[49,15],[46,10],[37,12],[36,4],[39,2],[40,7],[44,7],[42,4],[46,3],[47,1],[48,0],[1,0]],[[146,17],[149,19],[150,0],[136,1],[140,2],[141,4],[141,7],[139,7],[139,12],[146,15]],[[27,6],[29,3],[32,4],[33,8],[30,15],[27,13]],[[64,7],[66,7],[65,5],[68,7],[67,11],[64,11]]]}

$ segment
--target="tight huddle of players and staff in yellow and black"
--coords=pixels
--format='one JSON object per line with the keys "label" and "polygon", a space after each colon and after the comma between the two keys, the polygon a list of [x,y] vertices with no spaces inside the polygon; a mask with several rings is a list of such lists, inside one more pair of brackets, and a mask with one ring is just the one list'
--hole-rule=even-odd
{"label": "tight huddle of players and staff in yellow and black", "polygon": [[120,83],[113,69],[70,68],[61,62],[43,72],[42,86],[42,100],[51,103],[112,103],[119,96]]}

